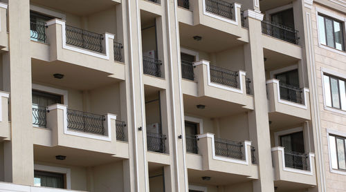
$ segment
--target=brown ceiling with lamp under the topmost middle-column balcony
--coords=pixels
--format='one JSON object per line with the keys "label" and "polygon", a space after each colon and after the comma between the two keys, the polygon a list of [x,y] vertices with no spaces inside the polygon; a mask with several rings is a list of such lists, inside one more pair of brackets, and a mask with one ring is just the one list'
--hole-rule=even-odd
{"label": "brown ceiling with lamp under the topmost middle-column balcony", "polygon": [[[244,41],[237,40],[239,37],[235,35],[202,25],[179,23],[179,36],[181,46],[205,52],[219,52],[245,44]],[[202,37],[201,41],[194,40],[194,36]]]}

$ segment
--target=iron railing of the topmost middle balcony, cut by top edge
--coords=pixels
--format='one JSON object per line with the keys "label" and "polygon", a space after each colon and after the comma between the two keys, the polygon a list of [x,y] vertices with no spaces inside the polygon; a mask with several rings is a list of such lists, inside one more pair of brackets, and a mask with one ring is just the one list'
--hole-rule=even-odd
{"label": "iron railing of the topmost middle balcony, cut by top edge", "polygon": [[233,19],[233,5],[221,0],[206,0],[206,11]]}

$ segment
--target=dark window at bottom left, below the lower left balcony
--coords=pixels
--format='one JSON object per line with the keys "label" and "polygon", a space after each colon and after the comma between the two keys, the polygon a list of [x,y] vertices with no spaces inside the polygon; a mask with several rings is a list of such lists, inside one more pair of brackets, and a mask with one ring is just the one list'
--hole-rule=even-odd
{"label": "dark window at bottom left, below the lower left balcony", "polygon": [[65,175],[46,171],[35,171],[34,185],[65,189]]}

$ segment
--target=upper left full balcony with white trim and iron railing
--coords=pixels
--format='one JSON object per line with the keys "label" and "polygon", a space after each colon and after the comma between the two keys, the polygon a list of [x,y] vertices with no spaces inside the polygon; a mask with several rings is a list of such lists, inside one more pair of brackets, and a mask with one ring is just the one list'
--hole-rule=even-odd
{"label": "upper left full balcony with white trim and iron railing", "polygon": [[114,35],[107,32],[98,34],[52,19],[31,21],[30,39],[33,59],[61,66],[74,64],[125,79],[122,44],[114,41]]}

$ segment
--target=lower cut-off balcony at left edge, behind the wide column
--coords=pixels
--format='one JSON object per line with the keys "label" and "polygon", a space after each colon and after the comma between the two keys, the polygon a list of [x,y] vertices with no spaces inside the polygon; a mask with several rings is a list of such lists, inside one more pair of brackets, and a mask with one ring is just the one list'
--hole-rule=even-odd
{"label": "lower cut-off balcony at left edge, behind the wide column", "polygon": [[11,139],[11,128],[9,124],[8,117],[8,98],[10,97],[9,93],[0,91],[0,139],[1,140],[10,140]]}

